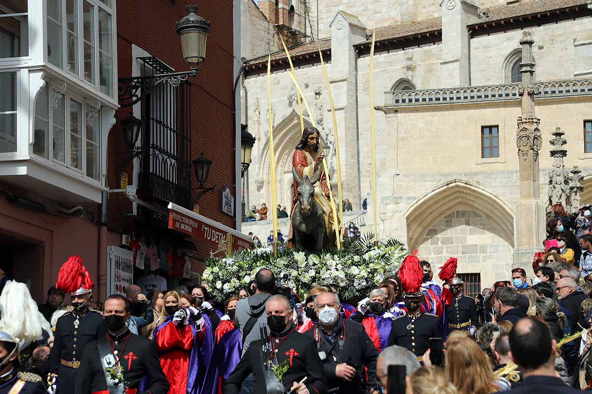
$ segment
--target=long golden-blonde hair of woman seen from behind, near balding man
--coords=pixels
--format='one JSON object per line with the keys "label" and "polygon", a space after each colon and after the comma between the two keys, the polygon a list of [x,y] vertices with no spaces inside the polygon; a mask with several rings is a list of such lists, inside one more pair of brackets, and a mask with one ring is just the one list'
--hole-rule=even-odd
{"label": "long golden-blonde hair of woman seen from behind, near balding man", "polygon": [[503,378],[496,379],[484,351],[471,338],[446,342],[445,372],[459,394],[492,394],[509,389]]}

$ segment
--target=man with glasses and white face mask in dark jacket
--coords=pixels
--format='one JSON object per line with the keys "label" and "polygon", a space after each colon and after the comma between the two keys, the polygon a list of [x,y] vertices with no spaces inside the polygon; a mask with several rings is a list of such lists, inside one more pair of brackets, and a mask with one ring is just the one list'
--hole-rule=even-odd
{"label": "man with glasses and white face mask in dark jacket", "polygon": [[[317,344],[328,388],[339,389],[337,393],[342,394],[362,394],[368,388],[378,390],[378,350],[363,325],[340,316],[339,297],[334,293],[318,294],[314,309],[318,325],[305,335]],[[368,382],[365,368],[368,369]]]}

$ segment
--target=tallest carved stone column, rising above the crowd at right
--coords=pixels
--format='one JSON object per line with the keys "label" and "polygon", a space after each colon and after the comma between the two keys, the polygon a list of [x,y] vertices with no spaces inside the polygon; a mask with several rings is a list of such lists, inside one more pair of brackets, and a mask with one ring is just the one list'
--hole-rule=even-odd
{"label": "tallest carved stone column, rising above the crowd at right", "polygon": [[522,114],[517,119],[516,146],[520,163],[520,201],[516,204],[516,238],[513,268],[525,268],[532,263],[533,254],[542,250],[545,240],[545,207],[540,201],[539,150],[540,119],[535,115],[534,86],[535,59],[532,56],[530,31],[522,32],[522,86],[519,87]]}

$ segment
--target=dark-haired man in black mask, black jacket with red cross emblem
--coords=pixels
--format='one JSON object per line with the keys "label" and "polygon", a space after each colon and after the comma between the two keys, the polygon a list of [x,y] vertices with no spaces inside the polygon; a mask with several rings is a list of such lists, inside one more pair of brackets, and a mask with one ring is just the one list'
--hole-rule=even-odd
{"label": "dark-haired man in black mask, black jacket with red cross emblem", "polygon": [[150,387],[143,388],[144,392],[168,392],[169,382],[160,367],[156,345],[153,341],[130,333],[126,325],[130,316],[130,303],[125,297],[118,294],[107,297],[104,319],[108,334],[86,346],[76,375],[76,394],[108,390],[103,361],[107,366],[110,365],[109,361],[119,362],[127,389],[139,389],[141,380],[149,376]]}

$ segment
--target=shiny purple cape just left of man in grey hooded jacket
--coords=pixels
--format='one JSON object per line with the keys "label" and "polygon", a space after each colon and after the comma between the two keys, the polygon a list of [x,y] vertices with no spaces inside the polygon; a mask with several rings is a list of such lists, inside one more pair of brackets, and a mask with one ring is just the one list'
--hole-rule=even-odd
{"label": "shiny purple cape just left of man in grey hooded jacket", "polygon": [[202,394],[221,393],[221,383],[228,379],[236,364],[240,362],[242,351],[243,343],[238,328],[230,330],[220,338],[214,347],[214,354],[205,373]]}

